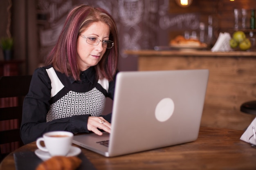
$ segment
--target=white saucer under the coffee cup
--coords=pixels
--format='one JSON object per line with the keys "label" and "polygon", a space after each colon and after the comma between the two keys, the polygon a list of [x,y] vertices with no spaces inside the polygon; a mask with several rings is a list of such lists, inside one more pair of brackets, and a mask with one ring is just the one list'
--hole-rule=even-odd
{"label": "white saucer under the coffee cup", "polygon": [[[71,146],[70,151],[67,153],[66,157],[73,157],[79,155],[81,152],[80,148],[77,148],[76,146]],[[52,156],[49,154],[49,152],[44,152],[40,149],[37,149],[35,151],[36,156],[38,156],[43,161],[46,161],[47,159],[51,158]]]}

